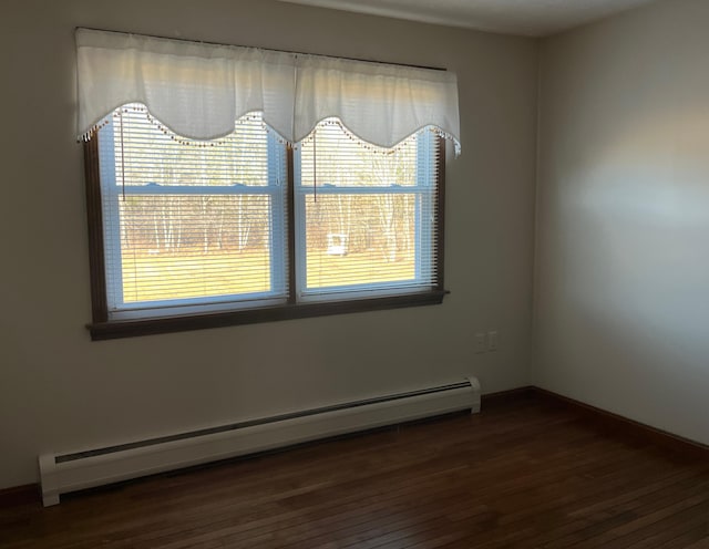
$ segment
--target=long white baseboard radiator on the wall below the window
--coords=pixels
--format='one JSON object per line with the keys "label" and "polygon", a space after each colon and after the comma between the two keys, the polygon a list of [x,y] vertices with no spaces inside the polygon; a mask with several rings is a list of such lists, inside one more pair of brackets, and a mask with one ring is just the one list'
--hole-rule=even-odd
{"label": "long white baseboard radiator on the wall below the window", "polygon": [[61,494],[451,412],[480,412],[480,383],[378,396],[103,448],[39,456],[44,506]]}

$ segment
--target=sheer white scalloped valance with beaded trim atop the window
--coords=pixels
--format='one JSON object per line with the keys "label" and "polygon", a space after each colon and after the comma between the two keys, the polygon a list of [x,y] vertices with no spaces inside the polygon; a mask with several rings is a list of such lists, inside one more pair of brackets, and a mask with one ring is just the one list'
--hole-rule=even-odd
{"label": "sheer white scalloped valance with beaded trim atop the window", "polygon": [[296,144],[337,117],[392,147],[424,127],[460,153],[454,73],[366,61],[76,30],[80,138],[116,107],[142,103],[174,133],[214,139],[247,113]]}

